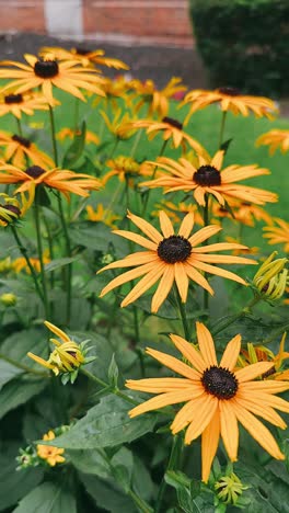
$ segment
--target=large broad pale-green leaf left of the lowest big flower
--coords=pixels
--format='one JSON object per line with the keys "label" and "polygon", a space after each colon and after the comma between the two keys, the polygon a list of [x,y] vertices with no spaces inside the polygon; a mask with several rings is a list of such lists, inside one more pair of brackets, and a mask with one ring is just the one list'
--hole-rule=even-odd
{"label": "large broad pale-green leaf left of the lowest big flower", "polygon": [[[128,394],[125,391],[124,394]],[[131,396],[131,392],[129,392]],[[78,421],[67,433],[47,445],[70,449],[114,447],[132,442],[153,430],[158,417],[147,414],[129,419],[131,404],[116,396],[106,396],[91,408],[86,415]]]}

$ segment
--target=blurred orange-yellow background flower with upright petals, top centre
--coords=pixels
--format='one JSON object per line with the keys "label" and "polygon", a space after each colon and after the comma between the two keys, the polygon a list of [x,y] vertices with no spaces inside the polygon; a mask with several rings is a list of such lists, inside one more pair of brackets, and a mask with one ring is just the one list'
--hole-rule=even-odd
{"label": "blurred orange-yellow background flower with upright petals, top centre", "polygon": [[148,105],[148,116],[157,114],[158,117],[164,117],[169,112],[169,100],[180,91],[186,91],[181,78],[173,77],[167,84],[158,91],[152,80],[131,80],[130,84],[136,92],[141,96],[141,100],[136,105],[138,112],[142,105]]}

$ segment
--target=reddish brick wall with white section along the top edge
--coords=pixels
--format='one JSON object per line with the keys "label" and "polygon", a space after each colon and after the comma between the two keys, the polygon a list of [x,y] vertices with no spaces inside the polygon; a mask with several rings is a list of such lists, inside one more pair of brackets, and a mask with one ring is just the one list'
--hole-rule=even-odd
{"label": "reddish brick wall with white section along the top edge", "polygon": [[0,33],[193,45],[188,0],[0,0]]}

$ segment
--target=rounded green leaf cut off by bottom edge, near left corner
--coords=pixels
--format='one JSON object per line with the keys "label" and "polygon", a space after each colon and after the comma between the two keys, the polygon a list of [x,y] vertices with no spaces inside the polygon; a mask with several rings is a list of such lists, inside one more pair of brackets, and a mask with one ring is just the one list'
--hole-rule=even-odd
{"label": "rounded green leaf cut off by bottom edge, near left corner", "polygon": [[61,486],[44,482],[28,493],[13,513],[77,513],[76,498]]}

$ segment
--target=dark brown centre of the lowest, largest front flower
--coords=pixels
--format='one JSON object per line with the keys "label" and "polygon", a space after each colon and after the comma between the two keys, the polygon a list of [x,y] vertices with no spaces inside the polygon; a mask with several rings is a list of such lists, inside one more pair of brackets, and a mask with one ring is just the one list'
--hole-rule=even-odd
{"label": "dark brown centre of the lowest, largest front flower", "polygon": [[235,375],[228,368],[217,367],[217,365],[212,365],[204,372],[201,383],[205,390],[217,399],[232,399],[238,391]]}

